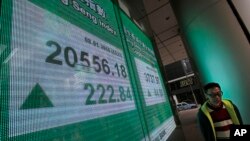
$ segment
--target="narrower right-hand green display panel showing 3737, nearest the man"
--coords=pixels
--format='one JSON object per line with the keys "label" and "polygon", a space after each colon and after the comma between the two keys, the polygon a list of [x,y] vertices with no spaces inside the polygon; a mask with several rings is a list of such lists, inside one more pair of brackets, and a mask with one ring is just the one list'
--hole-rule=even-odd
{"label": "narrower right-hand green display panel showing 3737, nearest the man", "polygon": [[150,140],[166,140],[176,127],[150,39],[120,12]]}

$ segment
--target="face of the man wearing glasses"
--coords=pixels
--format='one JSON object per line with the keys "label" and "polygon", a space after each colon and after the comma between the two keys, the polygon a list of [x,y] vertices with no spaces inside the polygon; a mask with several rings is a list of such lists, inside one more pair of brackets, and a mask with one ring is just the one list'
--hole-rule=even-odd
{"label": "face of the man wearing glasses", "polygon": [[222,96],[222,92],[221,92],[220,88],[218,88],[218,87],[210,88],[207,91],[207,97],[208,97],[210,103],[215,105],[215,106],[220,105],[221,96]]}

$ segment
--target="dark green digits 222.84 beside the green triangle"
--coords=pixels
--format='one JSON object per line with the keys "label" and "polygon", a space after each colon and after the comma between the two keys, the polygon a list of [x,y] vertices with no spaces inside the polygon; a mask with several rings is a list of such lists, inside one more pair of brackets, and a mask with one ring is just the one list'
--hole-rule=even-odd
{"label": "dark green digits 222.84 beside the green triangle", "polygon": [[[114,91],[113,86],[107,85],[103,86],[102,84],[98,84],[94,87],[91,83],[86,83],[84,85],[84,90],[89,90],[89,94],[87,96],[86,105],[93,104],[106,104],[106,103],[116,103],[116,102],[125,102],[128,100],[133,100],[133,97],[130,93],[129,87],[124,89],[122,86],[119,86],[119,96]],[[99,93],[99,94],[98,94]],[[94,95],[99,95],[98,99],[95,99]],[[105,98],[108,95],[108,98]]]}

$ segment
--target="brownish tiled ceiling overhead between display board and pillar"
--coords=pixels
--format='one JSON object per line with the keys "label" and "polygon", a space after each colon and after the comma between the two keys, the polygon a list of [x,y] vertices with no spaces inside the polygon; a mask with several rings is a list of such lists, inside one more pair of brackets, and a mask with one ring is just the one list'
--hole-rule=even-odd
{"label": "brownish tiled ceiling overhead between display board and pillar", "polygon": [[163,65],[187,58],[169,0],[124,0],[131,17],[153,36]]}

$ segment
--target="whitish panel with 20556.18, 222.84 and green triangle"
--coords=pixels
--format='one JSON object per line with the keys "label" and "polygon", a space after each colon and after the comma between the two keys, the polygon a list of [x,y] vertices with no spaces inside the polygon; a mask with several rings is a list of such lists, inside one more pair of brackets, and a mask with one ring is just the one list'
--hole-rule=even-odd
{"label": "whitish panel with 20556.18, 222.84 and green triangle", "polygon": [[135,109],[120,49],[30,2],[14,7],[10,136]]}

